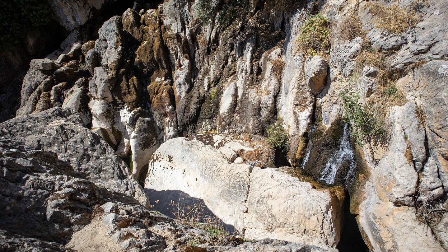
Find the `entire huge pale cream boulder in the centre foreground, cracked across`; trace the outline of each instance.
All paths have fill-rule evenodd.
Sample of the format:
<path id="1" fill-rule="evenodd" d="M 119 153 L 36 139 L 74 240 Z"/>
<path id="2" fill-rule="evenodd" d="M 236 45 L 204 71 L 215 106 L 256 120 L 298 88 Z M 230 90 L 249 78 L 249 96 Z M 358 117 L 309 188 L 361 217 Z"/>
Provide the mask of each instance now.
<path id="1" fill-rule="evenodd" d="M 145 190 L 159 211 L 203 204 L 247 239 L 284 239 L 331 251 L 340 239 L 343 191 L 317 190 L 276 169 L 234 164 L 198 140 L 160 145 Z"/>

